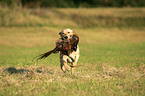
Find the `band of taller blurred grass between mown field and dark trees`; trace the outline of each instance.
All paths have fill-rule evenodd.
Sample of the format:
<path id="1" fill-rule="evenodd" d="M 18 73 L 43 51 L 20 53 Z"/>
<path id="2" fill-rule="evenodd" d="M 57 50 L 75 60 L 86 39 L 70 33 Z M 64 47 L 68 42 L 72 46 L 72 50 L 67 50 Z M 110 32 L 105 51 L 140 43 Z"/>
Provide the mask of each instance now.
<path id="1" fill-rule="evenodd" d="M 0 8 L 0 26 L 4 27 L 144 27 L 145 8 Z"/>

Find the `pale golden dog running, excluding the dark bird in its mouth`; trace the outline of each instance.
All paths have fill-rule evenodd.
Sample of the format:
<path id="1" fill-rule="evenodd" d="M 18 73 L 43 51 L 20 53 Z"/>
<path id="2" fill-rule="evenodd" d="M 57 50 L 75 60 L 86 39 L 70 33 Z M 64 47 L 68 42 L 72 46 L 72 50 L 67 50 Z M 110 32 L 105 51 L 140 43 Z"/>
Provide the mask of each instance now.
<path id="1" fill-rule="evenodd" d="M 63 29 L 60 33 L 59 33 L 60 39 L 61 40 L 72 40 L 75 38 L 75 36 L 77 36 L 76 34 L 74 34 L 74 31 L 71 29 Z M 73 71 L 74 68 L 77 65 L 77 61 L 79 59 L 79 46 L 78 46 L 78 42 L 79 42 L 79 38 L 77 38 L 78 40 L 74 40 L 73 45 L 72 45 L 72 49 L 70 50 L 70 52 L 68 54 L 64 54 L 63 51 L 60 51 L 60 67 L 62 69 L 63 72 L 66 72 L 66 70 L 71 70 Z M 71 66 L 68 65 L 68 62 L 71 63 Z"/>

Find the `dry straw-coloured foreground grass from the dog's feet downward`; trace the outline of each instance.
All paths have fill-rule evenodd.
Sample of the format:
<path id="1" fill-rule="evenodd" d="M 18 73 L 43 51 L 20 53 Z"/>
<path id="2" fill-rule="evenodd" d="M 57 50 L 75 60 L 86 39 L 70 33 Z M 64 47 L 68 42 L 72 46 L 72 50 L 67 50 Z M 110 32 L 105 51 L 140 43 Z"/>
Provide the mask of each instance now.
<path id="1" fill-rule="evenodd" d="M 21 69 L 28 71 L 13 74 L 1 68 L 3 70 L 0 77 L 1 94 L 103 95 L 103 92 L 107 95 L 131 95 L 128 92 L 144 94 L 144 73 L 136 69 L 116 68 L 107 64 L 79 67 L 80 69 L 76 69 L 73 74 L 70 72 L 64 74 L 58 67 L 54 69 L 45 65 L 23 67 Z"/>

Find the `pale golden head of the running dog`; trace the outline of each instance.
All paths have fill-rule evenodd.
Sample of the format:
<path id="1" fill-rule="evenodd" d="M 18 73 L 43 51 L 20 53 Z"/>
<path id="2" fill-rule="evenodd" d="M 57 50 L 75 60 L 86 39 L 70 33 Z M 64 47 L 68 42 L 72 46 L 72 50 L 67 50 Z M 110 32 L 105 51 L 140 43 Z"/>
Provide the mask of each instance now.
<path id="1" fill-rule="evenodd" d="M 74 35 L 74 31 L 73 30 L 71 30 L 71 29 L 63 29 L 60 33 L 59 33 L 59 36 L 60 36 L 60 38 L 62 39 L 62 40 L 64 40 L 64 39 L 67 39 L 67 40 L 69 40 L 69 39 L 71 39 L 72 38 L 72 36 Z"/>

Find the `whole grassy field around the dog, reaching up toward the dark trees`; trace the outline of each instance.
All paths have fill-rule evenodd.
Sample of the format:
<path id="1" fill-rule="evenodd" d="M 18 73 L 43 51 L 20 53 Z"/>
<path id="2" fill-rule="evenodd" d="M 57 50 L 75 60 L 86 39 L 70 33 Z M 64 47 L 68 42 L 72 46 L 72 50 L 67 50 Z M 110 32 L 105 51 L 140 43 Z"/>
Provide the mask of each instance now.
<path id="1" fill-rule="evenodd" d="M 83 13 L 82 10 L 86 13 Z M 104 10 L 104 13 L 101 10 Z M 50 13 L 38 17 L 37 15 L 40 14 L 36 14 L 35 10 L 29 11 L 31 11 L 30 13 L 33 12 L 33 14 L 26 13 L 29 19 L 34 16 L 30 20 L 40 20 L 39 23 L 34 22 L 34 25 L 29 26 L 31 21 L 23 22 L 25 20 L 23 17 L 21 24 L 17 22 L 21 26 L 17 24 L 14 26 L 15 20 L 9 22 L 8 19 L 5 19 L 8 23 L 6 21 L 3 22 L 3 25 L 0 23 L 1 96 L 145 95 L 145 27 L 139 27 L 140 24 L 144 24 L 144 21 L 142 21 L 144 20 L 142 18 L 145 17 L 142 14 L 145 12 L 144 8 L 127 10 L 125 8 L 51 9 L 48 11 Z M 43 9 L 41 12 L 45 13 L 45 11 L 46 9 Z M 127 26 L 131 22 L 119 22 L 120 19 L 115 19 L 117 20 L 117 26 L 109 23 L 109 27 L 106 27 L 106 23 L 102 25 L 104 23 L 101 21 L 102 24 L 95 27 L 98 22 L 92 21 L 93 19 L 88 21 L 93 22 L 89 25 L 86 21 L 83 22 L 84 19 L 82 18 L 78 22 L 75 20 L 73 22 L 68 12 L 73 13 L 73 16 L 74 13 L 80 12 L 77 16 L 75 14 L 73 18 L 76 21 L 80 20 L 81 16 L 86 16 L 82 18 L 88 19 L 87 13 L 92 16 L 104 16 L 104 18 L 107 16 L 108 18 L 114 12 L 118 12 L 116 15 L 113 14 L 114 18 L 123 16 L 122 18 L 136 17 L 141 19 L 135 19 L 137 21 L 131 19 L 133 26 Z M 139 12 L 141 14 L 138 14 Z M 56 14 L 59 14 L 59 16 L 56 16 Z M 50 15 L 49 18 L 48 15 Z M 67 18 L 62 18 L 65 15 L 67 15 Z M 9 15 L 3 14 L 3 16 L 7 17 Z M 43 25 L 45 20 L 49 20 L 49 23 Z M 51 25 L 49 25 L 50 22 L 52 22 Z M 111 19 L 108 22 L 114 22 L 114 20 Z M 138 22 L 138 27 L 134 27 L 134 22 Z M 118 27 L 119 24 L 121 24 L 121 27 Z M 80 58 L 73 74 L 71 72 L 64 74 L 61 71 L 59 54 L 53 54 L 38 63 L 35 60 L 32 61 L 35 56 L 54 48 L 58 32 L 65 27 L 70 27 L 80 36 Z"/>

